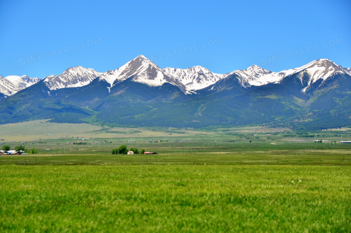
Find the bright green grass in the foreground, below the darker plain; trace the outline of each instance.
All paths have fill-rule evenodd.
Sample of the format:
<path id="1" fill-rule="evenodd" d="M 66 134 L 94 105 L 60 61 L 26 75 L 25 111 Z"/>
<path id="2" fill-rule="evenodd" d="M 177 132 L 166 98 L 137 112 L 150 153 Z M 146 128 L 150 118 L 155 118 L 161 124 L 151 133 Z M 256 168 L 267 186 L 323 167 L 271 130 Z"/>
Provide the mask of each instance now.
<path id="1" fill-rule="evenodd" d="M 348 166 L 0 169 L 4 232 L 350 231 Z"/>

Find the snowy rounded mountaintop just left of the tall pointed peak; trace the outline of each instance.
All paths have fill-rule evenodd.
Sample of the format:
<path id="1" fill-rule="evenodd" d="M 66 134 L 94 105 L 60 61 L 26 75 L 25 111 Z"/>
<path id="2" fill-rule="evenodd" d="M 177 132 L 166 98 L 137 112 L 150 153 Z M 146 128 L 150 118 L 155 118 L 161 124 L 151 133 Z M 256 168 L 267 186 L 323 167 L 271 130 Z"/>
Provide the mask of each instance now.
<path id="1" fill-rule="evenodd" d="M 50 90 L 66 87 L 82 87 L 89 84 L 101 74 L 94 69 L 77 66 L 68 68 L 60 75 L 49 75 L 45 77 L 44 82 Z"/>

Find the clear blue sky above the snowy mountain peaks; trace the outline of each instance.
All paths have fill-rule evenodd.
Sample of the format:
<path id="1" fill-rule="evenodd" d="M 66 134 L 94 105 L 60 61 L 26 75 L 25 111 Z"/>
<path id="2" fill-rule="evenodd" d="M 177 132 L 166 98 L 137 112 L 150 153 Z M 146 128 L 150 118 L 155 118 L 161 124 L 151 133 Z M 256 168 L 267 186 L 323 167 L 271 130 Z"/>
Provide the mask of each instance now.
<path id="1" fill-rule="evenodd" d="M 253 64 L 280 71 L 319 58 L 351 67 L 350 12 L 349 0 L 2 0 L 0 75 L 43 78 L 78 65 L 105 72 L 140 54 L 161 68 L 215 73 Z"/>

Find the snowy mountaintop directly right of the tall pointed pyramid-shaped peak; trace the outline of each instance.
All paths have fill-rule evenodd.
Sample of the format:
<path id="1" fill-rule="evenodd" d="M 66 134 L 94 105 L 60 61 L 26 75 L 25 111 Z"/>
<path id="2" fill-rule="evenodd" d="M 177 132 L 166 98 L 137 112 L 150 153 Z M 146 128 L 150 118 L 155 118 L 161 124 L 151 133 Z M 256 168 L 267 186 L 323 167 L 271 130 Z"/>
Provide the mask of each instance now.
<path id="1" fill-rule="evenodd" d="M 225 74 L 212 73 L 210 70 L 199 65 L 188 69 L 166 67 L 163 70 L 169 76 L 173 76 L 179 82 L 183 83 L 188 91 L 203 89 L 226 76 Z"/>

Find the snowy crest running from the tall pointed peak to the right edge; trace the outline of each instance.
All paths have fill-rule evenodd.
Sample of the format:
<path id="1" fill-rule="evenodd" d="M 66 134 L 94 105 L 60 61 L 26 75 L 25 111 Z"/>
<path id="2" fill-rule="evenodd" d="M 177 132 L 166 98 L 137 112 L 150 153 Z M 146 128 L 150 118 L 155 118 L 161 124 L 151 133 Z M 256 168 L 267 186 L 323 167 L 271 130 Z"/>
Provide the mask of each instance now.
<path id="1" fill-rule="evenodd" d="M 238 77 L 241 86 L 248 88 L 267 83 L 278 83 L 284 77 L 302 70 L 306 70 L 311 75 L 310 83 L 315 82 L 320 77 L 325 79 L 335 71 L 350 72 L 327 59 L 319 59 L 303 67 L 280 72 L 272 72 L 257 65 L 252 65 L 245 70 L 234 70 L 230 74 L 215 74 L 200 66 L 188 69 L 167 67 L 162 70 L 146 57 L 140 55 L 116 70 L 103 73 L 99 78 L 110 83 L 111 87 L 127 78 L 148 86 L 161 86 L 167 82 L 179 87 L 184 93 L 190 94 L 194 93 L 194 90 L 208 87 L 223 78 L 231 77 L 233 74 Z"/>

